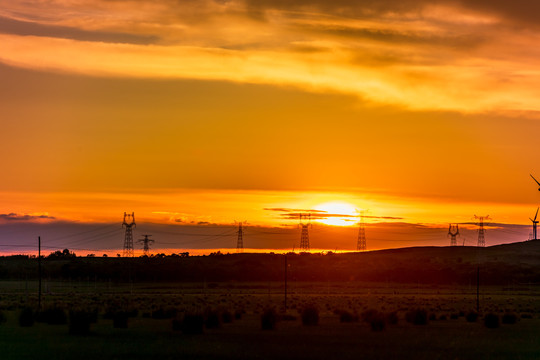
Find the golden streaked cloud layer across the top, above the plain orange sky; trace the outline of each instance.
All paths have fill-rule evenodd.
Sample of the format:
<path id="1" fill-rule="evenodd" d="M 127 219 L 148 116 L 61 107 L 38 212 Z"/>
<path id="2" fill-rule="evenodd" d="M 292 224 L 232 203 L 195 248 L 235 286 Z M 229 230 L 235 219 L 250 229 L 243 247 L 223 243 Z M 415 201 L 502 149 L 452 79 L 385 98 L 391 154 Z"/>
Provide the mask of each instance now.
<path id="1" fill-rule="evenodd" d="M 540 110 L 540 5 L 524 0 L 0 5 L 0 61 L 13 66 L 290 85 L 411 109 Z"/>

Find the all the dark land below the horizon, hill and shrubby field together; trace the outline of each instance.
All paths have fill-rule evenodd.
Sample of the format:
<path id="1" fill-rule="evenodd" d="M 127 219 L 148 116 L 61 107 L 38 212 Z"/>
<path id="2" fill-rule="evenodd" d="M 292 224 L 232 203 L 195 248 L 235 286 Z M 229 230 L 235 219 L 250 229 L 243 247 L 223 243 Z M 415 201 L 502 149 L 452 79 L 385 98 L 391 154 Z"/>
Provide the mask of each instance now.
<path id="1" fill-rule="evenodd" d="M 52 256 L 39 311 L 37 260 L 0 258 L 2 360 L 540 359 L 540 241 Z"/>

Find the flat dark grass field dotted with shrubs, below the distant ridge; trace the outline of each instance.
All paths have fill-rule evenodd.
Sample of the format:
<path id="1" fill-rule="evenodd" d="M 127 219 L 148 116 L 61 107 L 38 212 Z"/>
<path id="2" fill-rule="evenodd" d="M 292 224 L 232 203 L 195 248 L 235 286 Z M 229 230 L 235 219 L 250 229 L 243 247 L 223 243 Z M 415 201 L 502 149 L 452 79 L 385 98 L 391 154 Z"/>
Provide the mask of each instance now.
<path id="1" fill-rule="evenodd" d="M 35 305 L 34 283 L 1 283 L 0 307 L 7 321 L 0 325 L 2 359 L 538 359 L 540 303 L 533 288 L 485 288 L 481 314 L 475 309 L 475 289 L 469 287 L 392 286 L 389 284 L 298 283 L 289 289 L 289 320 L 274 330 L 261 329 L 261 314 L 283 308 L 278 283 L 48 284 L 43 305 L 66 310 L 91 308 L 98 314 L 88 335 L 70 335 L 68 325 L 18 323 L 20 307 Z M 69 285 L 69 286 L 68 286 Z M 27 290 L 28 289 L 28 290 Z M 319 310 L 316 326 L 304 326 L 302 309 Z M 113 327 L 105 314 L 110 307 L 135 309 L 127 329 Z M 425 325 L 405 321 L 407 311 L 425 309 Z M 175 331 L 171 318 L 154 318 L 159 309 L 177 314 L 205 309 L 242 314 L 231 323 L 206 328 L 203 334 Z M 365 321 L 340 322 L 340 311 L 396 312 L 397 324 L 373 331 Z M 484 326 L 482 314 L 516 315 L 515 324 Z M 176 315 L 178 317 L 178 315 Z"/>

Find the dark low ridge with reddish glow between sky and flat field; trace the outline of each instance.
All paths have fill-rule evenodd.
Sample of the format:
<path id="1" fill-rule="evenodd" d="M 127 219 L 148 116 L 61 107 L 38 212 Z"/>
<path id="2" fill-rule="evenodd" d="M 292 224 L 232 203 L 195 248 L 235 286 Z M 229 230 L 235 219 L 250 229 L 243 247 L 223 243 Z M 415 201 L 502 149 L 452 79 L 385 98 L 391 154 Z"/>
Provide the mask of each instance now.
<path id="1" fill-rule="evenodd" d="M 67 250 L 67 249 L 66 249 Z M 124 282 L 283 281 L 285 255 L 213 254 L 139 258 L 75 257 L 64 250 L 42 260 L 43 277 Z M 474 247 L 417 247 L 344 254 L 288 254 L 289 281 L 493 285 L 540 284 L 540 241 Z M 0 258 L 0 279 L 37 279 L 37 259 Z"/>

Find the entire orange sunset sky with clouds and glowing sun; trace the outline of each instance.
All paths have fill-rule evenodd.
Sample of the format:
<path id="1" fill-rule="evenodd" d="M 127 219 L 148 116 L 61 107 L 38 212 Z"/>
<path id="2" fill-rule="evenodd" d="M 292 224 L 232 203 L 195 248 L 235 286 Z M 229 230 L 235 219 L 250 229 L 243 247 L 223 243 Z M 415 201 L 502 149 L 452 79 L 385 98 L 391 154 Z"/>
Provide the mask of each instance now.
<path id="1" fill-rule="evenodd" d="M 0 0 L 0 252 L 113 251 L 125 211 L 159 249 L 234 248 L 235 221 L 297 248 L 295 210 L 328 215 L 315 249 L 354 250 L 332 224 L 362 209 L 370 249 L 475 245 L 475 214 L 526 240 L 539 24 L 525 0 Z"/>

